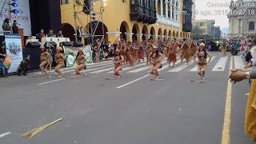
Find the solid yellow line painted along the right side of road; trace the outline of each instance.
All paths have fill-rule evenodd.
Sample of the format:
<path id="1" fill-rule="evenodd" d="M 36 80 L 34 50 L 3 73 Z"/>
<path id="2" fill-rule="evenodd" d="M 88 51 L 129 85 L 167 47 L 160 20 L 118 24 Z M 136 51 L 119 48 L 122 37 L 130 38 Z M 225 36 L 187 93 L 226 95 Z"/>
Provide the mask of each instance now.
<path id="1" fill-rule="evenodd" d="M 233 68 L 233 64 L 234 56 L 230 58 L 230 70 Z M 232 83 L 227 82 L 225 116 L 222 130 L 222 144 L 230 144 L 231 96 Z"/>

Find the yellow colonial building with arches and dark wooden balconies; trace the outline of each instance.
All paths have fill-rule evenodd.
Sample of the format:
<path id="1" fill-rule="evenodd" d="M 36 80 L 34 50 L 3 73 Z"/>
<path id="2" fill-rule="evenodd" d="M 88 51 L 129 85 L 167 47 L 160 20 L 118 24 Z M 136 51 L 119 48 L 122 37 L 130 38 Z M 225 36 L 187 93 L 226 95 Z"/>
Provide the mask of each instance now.
<path id="1" fill-rule="evenodd" d="M 190 38 L 190 30 L 183 30 L 179 13 L 183 0 L 98 0 L 92 12 L 96 22 L 93 26 L 90 26 L 91 15 L 82 13 L 82 1 L 62 1 L 65 1 L 61 5 L 62 32 L 72 40 L 77 26 L 82 26 L 86 33 L 97 25 L 96 21 L 99 23 L 95 35 L 105 35 L 110 42 L 119 38 L 127 41 Z M 102 14 L 97 12 L 100 10 Z"/>

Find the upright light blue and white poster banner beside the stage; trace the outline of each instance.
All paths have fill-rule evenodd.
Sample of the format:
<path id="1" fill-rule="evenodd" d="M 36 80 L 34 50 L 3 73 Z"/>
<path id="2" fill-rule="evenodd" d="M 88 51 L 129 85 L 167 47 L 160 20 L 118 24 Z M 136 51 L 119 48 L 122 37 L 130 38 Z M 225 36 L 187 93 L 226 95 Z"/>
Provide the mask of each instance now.
<path id="1" fill-rule="evenodd" d="M 23 60 L 21 36 L 19 34 L 5 34 L 5 39 L 6 54 L 11 57 L 8 73 L 14 73 Z"/>

